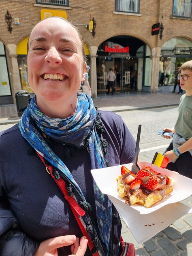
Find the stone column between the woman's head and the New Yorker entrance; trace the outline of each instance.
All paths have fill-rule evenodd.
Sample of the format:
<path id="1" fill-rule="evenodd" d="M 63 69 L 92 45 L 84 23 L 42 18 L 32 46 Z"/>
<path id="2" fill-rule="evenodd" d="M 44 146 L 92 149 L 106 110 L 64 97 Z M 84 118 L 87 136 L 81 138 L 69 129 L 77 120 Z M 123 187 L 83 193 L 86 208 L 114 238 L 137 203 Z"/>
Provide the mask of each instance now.
<path id="1" fill-rule="evenodd" d="M 96 65 L 96 53 L 98 47 L 91 46 L 90 49 L 90 64 L 91 64 L 91 91 L 92 91 L 92 98 L 97 98 L 97 65 Z"/>

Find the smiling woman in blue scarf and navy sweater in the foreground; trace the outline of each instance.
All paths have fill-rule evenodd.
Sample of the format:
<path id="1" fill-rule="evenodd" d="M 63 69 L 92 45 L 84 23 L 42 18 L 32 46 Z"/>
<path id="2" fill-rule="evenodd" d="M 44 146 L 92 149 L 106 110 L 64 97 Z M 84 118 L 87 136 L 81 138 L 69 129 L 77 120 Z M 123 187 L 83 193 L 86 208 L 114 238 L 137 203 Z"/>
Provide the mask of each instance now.
<path id="1" fill-rule="evenodd" d="M 132 162 L 135 141 L 119 115 L 79 92 L 86 62 L 74 26 L 47 18 L 28 46 L 36 96 L 0 133 L 0 255 L 119 256 L 118 212 L 90 170 Z"/>

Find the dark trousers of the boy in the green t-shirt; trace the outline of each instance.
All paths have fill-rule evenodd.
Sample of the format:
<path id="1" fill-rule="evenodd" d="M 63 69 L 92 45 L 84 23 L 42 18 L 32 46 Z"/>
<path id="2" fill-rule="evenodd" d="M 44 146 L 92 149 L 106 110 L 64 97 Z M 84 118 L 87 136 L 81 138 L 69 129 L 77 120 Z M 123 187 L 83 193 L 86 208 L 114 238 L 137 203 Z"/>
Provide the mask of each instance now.
<path id="1" fill-rule="evenodd" d="M 173 143 L 171 142 L 169 144 L 169 147 L 166 149 L 166 151 L 173 149 Z M 165 151 L 165 152 L 166 152 Z M 181 154 L 175 163 L 171 162 L 166 166 L 166 169 L 169 169 L 171 171 L 176 171 L 181 175 L 184 175 L 190 179 L 192 179 L 192 156 L 189 153 L 189 151 Z"/>

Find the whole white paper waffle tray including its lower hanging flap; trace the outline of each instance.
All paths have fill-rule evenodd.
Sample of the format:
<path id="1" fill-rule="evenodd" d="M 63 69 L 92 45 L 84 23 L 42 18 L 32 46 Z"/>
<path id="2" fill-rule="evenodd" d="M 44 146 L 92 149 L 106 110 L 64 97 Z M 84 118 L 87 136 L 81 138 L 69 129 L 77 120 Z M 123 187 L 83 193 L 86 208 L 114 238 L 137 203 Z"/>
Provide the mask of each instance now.
<path id="1" fill-rule="evenodd" d="M 151 165 L 149 162 L 138 164 L 140 168 Z M 190 207 L 179 203 L 192 194 L 192 179 L 155 165 L 152 165 L 152 169 L 172 178 L 172 194 L 150 208 L 126 205 L 125 200 L 117 193 L 116 178 L 121 174 L 121 166 L 95 169 L 91 172 L 98 187 L 104 194 L 108 194 L 138 243 L 144 243 L 186 213 L 192 213 Z M 132 164 L 124 166 L 131 170 Z"/>

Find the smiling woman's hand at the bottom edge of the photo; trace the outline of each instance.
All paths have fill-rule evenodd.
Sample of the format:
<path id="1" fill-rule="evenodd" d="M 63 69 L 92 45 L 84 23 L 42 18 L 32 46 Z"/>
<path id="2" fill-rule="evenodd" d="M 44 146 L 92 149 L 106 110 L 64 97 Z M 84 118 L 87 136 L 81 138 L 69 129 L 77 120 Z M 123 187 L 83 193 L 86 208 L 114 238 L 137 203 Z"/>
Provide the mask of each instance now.
<path id="1" fill-rule="evenodd" d="M 81 237 L 80 243 L 79 238 L 75 235 L 61 236 L 49 238 L 39 245 L 35 256 L 58 256 L 58 248 L 63 246 L 71 246 L 70 256 L 84 256 L 87 249 L 88 240 L 85 236 Z"/>

